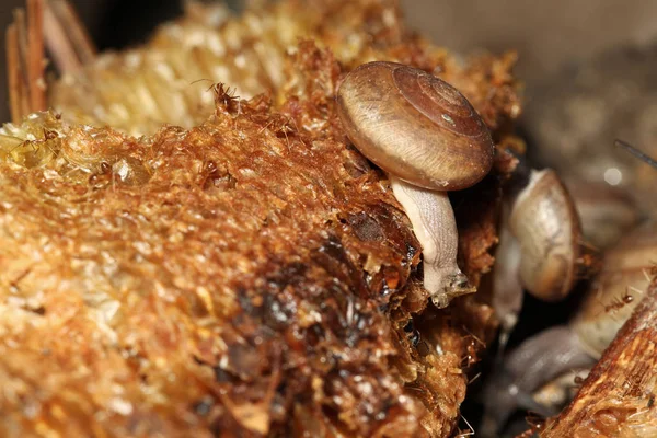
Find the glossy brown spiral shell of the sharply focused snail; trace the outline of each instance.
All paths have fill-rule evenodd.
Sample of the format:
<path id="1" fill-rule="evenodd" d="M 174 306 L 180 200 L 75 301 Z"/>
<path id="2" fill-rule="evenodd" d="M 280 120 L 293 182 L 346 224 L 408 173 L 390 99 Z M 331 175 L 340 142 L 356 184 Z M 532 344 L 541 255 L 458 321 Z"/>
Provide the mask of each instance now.
<path id="1" fill-rule="evenodd" d="M 337 104 L 360 152 L 411 184 L 461 189 L 491 170 L 494 145 L 480 115 L 457 89 L 423 70 L 365 64 L 345 77 Z"/>

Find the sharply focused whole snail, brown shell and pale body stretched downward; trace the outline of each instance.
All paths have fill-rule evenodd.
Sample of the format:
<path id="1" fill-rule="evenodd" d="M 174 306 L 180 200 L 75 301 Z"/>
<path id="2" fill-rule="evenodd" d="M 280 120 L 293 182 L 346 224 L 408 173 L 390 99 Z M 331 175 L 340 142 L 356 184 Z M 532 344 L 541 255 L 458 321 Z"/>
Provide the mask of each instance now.
<path id="1" fill-rule="evenodd" d="M 344 130 L 388 174 L 423 246 L 431 300 L 473 292 L 457 266 L 458 231 L 447 191 L 480 182 L 493 165 L 488 128 L 447 82 L 408 66 L 374 61 L 349 72 L 337 91 Z"/>

